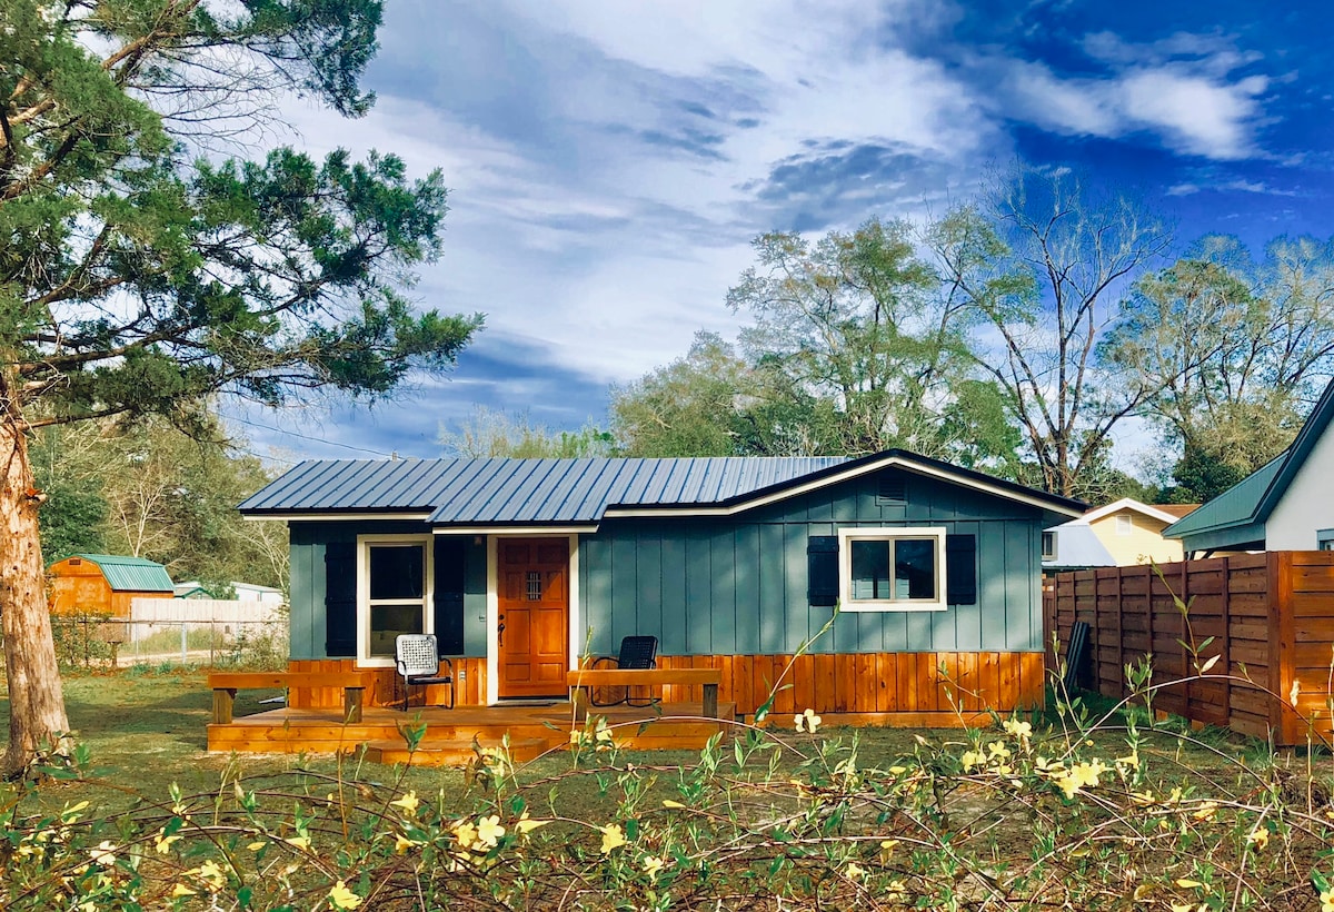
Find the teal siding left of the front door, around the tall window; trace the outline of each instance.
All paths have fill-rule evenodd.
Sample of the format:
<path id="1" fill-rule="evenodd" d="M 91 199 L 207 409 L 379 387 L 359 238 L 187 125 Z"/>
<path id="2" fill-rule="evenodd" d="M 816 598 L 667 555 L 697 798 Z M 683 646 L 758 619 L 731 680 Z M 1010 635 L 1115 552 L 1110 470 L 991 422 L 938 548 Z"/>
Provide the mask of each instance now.
<path id="1" fill-rule="evenodd" d="M 292 522 L 291 530 L 291 658 L 327 658 L 324 649 L 324 553 L 331 542 L 355 542 L 358 535 L 422 535 L 422 522 Z M 486 545 L 466 537 L 463 582 L 464 656 L 487 654 L 487 558 Z"/>

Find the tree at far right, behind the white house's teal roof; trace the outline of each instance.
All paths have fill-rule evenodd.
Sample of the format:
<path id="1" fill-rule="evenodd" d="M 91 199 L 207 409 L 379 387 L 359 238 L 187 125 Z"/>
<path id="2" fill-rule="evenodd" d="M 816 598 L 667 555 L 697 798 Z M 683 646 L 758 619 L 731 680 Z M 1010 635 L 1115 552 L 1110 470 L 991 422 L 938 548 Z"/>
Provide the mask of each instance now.
<path id="1" fill-rule="evenodd" d="M 1135 284 L 1106 357 L 1157 389 L 1143 413 L 1183 453 L 1177 495 L 1209 499 L 1291 442 L 1334 369 L 1331 291 L 1334 250 L 1310 238 L 1279 238 L 1257 263 L 1209 236 Z"/>

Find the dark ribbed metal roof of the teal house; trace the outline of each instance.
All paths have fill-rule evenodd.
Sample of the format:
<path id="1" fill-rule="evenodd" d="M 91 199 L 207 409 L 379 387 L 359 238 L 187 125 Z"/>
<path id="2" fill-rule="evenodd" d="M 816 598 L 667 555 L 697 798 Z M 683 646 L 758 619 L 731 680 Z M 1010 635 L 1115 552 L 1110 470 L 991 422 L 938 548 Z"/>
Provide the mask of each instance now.
<path id="1" fill-rule="evenodd" d="M 598 523 L 610 509 L 736 509 L 752 499 L 836 482 L 896 465 L 1053 517 L 1085 505 L 1014 482 L 887 450 L 843 457 L 700 457 L 676 459 L 399 459 L 303 462 L 247 498 L 251 517 L 403 515 L 442 526 Z"/>

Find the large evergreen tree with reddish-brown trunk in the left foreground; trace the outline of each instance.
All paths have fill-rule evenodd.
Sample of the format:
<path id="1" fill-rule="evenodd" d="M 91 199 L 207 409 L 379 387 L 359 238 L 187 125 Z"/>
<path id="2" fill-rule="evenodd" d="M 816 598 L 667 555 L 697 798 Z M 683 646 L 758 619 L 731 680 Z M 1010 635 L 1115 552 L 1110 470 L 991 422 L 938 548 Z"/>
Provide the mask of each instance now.
<path id="1" fill-rule="evenodd" d="M 439 174 L 323 162 L 256 135 L 284 92 L 346 116 L 379 0 L 9 0 L 0 12 L 0 622 L 17 769 L 68 730 L 43 592 L 28 434 L 220 390 L 279 406 L 379 397 L 447 369 L 479 316 L 418 315 Z M 191 151 L 193 150 L 193 151 Z M 209 150 L 211 160 L 196 158 Z"/>

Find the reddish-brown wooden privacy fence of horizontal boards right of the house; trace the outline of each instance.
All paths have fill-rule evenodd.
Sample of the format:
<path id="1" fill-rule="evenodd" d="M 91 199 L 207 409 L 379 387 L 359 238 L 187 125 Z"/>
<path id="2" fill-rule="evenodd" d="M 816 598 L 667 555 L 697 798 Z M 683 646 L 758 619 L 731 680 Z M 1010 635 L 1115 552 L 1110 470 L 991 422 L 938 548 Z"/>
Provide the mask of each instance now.
<path id="1" fill-rule="evenodd" d="M 1159 577 L 1159 573 L 1162 574 Z M 1175 598 L 1174 598 L 1175 597 Z M 1183 616 L 1177 598 L 1189 605 Z M 1058 574 L 1043 586 L 1047 664 L 1065 658 L 1075 621 L 1090 625 L 1086 686 L 1129 692 L 1126 666 L 1153 656 L 1157 709 L 1282 745 L 1331 737 L 1334 551 L 1269 551 Z M 1198 662 L 1218 661 L 1195 674 Z M 1197 677 L 1197 680 L 1186 680 Z M 1291 701 L 1295 690 L 1295 712 Z"/>

